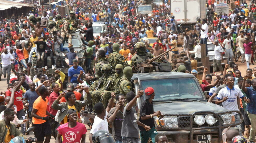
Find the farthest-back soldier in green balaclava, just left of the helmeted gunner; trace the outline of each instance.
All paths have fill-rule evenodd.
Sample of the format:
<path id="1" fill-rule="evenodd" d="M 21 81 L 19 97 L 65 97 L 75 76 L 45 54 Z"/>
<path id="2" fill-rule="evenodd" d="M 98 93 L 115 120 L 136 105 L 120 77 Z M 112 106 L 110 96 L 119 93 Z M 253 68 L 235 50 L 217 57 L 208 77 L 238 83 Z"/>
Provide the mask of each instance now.
<path id="1" fill-rule="evenodd" d="M 125 62 L 124 57 L 119 54 L 119 43 L 113 44 L 113 53 L 110 53 L 108 56 L 108 62 L 112 67 L 115 67 L 117 64 L 123 65 L 123 68 L 128 66 L 127 62 Z"/>

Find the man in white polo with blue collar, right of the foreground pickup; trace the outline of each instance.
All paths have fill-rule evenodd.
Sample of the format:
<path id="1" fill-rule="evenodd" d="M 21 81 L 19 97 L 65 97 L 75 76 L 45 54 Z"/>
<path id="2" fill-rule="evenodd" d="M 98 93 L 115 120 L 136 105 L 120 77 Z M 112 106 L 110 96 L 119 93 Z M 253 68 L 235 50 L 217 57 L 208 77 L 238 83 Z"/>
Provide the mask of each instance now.
<path id="1" fill-rule="evenodd" d="M 239 104 L 237 103 L 237 97 L 242 98 L 245 102 L 249 102 L 250 100 L 243 96 L 243 93 L 239 88 L 234 87 L 234 82 L 235 81 L 232 76 L 227 77 L 228 85 L 219 91 L 215 104 L 222 103 L 224 108 L 240 111 L 238 108 Z M 240 116 L 238 113 L 235 114 L 235 122 L 240 122 Z M 239 128 L 240 135 L 242 135 L 241 124 L 237 125 L 237 127 Z"/>

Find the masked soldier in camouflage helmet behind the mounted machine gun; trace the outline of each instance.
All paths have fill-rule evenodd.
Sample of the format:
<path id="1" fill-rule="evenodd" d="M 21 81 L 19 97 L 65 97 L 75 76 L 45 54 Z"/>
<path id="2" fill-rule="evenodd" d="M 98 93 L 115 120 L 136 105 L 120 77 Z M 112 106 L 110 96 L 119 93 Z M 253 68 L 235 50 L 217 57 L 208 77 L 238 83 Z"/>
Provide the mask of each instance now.
<path id="1" fill-rule="evenodd" d="M 151 53 L 146 51 L 146 45 L 143 42 L 137 42 L 135 48 L 137 50 L 137 55 L 131 58 L 131 67 L 135 67 L 137 63 L 142 63 L 146 59 L 154 57 Z"/>

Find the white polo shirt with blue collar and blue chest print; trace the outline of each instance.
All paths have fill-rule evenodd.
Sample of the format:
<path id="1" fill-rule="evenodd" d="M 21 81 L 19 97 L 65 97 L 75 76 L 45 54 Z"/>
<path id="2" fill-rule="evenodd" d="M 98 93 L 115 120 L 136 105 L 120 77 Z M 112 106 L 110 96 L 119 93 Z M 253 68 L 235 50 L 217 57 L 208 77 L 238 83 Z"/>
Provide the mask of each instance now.
<path id="1" fill-rule="evenodd" d="M 237 106 L 237 96 L 240 98 L 244 97 L 239 88 L 233 87 L 232 89 L 229 89 L 228 87 L 225 87 L 219 91 L 217 99 L 222 100 L 224 97 L 228 97 L 228 99 L 222 103 L 223 107 L 229 110 L 240 111 Z"/>

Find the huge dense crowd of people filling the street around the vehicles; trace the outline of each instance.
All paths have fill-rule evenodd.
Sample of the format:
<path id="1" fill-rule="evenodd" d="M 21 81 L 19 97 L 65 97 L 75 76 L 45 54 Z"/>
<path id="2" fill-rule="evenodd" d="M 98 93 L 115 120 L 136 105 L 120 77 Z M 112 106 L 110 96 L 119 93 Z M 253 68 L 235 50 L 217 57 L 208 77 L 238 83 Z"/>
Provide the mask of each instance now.
<path id="1" fill-rule="evenodd" d="M 135 94 L 131 81 L 134 67 L 167 50 L 174 54 L 186 52 L 187 56 L 177 61 L 183 65 L 176 71 L 197 78 L 197 63 L 202 58 L 199 43 L 206 44 L 207 55 L 207 42 L 212 42 L 215 45 L 213 73 L 206 75 L 209 69 L 204 69 L 200 87 L 209 92 L 209 102 L 244 115 L 243 123 L 237 126 L 239 133 L 229 128 L 223 130 L 223 142 L 246 141 L 244 138 L 254 142 L 256 68 L 252 70 L 249 66 L 255 62 L 255 1 L 247 4 L 236 0 L 236 8 L 230 13 L 214 12 L 214 2 L 207 2 L 207 19 L 197 19 L 194 29 L 191 32 L 184 29 L 183 33 L 178 32 L 181 29 L 175 17 L 168 17 L 168 1 L 154 5 L 150 16 L 136 13 L 141 1 L 67 0 L 69 15 L 60 15 L 57 8 L 37 7 L 36 11 L 21 16 L 1 17 L 0 56 L 8 86 L 0 96 L 3 119 L 0 126 L 6 133 L 0 133 L 0 140 L 10 142 L 26 131 L 25 107 L 29 122 L 35 127 L 35 138 L 25 137 L 30 142 L 49 143 L 53 136 L 57 143 L 84 143 L 87 132 L 84 124 L 91 124 L 80 112 L 95 115 L 89 135 L 91 143 L 104 142 L 102 134 L 113 136 L 109 140 L 118 143 L 144 143 L 149 138 L 152 142 L 167 142 L 167 137 L 158 134 L 154 127 L 153 117 L 161 115 L 161 111 L 153 110 L 154 89 L 148 87 Z M 107 32 L 94 37 L 93 22 L 104 22 Z M 75 32 L 83 35 L 82 64 L 72 44 Z M 177 46 L 178 36 L 183 38 L 183 51 Z M 147 38 L 156 41 L 149 43 Z M 65 41 L 67 47 L 63 47 Z M 236 51 L 241 52 L 241 62 L 247 64 L 244 78 L 233 62 Z M 227 59 L 224 70 L 223 52 Z M 54 73 L 46 74 L 49 66 Z M 33 77 L 31 68 L 37 71 Z M 65 68 L 66 74 L 60 70 Z M 211 83 L 218 70 L 221 74 Z M 134 105 L 143 94 L 146 100 L 141 104 L 137 120 L 138 110 Z M 235 121 L 240 122 L 239 114 L 235 115 Z M 21 126 L 20 131 L 17 125 Z"/>

